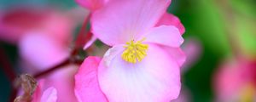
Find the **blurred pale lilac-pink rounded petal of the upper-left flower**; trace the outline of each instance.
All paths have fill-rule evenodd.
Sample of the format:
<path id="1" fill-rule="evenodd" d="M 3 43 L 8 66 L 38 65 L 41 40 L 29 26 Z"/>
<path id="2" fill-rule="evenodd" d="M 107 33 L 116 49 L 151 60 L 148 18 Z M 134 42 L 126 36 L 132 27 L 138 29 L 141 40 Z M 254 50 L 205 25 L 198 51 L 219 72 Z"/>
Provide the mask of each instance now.
<path id="1" fill-rule="evenodd" d="M 20 40 L 20 55 L 37 70 L 44 71 L 49 67 L 61 63 L 69 55 L 67 46 L 55 42 L 42 32 L 31 32 Z M 27 69 L 32 70 L 32 69 Z"/>

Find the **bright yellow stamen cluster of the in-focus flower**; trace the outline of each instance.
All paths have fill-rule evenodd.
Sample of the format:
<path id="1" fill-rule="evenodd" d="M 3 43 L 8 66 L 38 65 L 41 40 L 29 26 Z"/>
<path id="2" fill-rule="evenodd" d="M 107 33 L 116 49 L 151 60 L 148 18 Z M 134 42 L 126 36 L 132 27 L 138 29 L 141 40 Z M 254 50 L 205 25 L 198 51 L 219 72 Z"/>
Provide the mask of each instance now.
<path id="1" fill-rule="evenodd" d="M 143 38 L 145 40 L 145 38 Z M 143 40 L 134 42 L 126 42 L 125 51 L 122 54 L 122 58 L 130 63 L 137 63 L 137 61 L 142 61 L 142 59 L 147 55 L 146 51 L 148 50 L 148 45 L 143 44 Z"/>

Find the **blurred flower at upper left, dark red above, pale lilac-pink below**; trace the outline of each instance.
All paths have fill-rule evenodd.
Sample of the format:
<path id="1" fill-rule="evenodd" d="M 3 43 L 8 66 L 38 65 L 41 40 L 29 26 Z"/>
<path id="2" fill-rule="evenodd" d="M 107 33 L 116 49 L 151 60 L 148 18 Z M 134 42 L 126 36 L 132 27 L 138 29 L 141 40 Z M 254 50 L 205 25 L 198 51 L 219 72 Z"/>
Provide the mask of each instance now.
<path id="1" fill-rule="evenodd" d="M 12 8 L 0 17 L 0 38 L 18 44 L 24 71 L 44 71 L 66 59 L 77 22 L 53 9 Z M 57 26 L 57 27 L 56 27 Z"/>

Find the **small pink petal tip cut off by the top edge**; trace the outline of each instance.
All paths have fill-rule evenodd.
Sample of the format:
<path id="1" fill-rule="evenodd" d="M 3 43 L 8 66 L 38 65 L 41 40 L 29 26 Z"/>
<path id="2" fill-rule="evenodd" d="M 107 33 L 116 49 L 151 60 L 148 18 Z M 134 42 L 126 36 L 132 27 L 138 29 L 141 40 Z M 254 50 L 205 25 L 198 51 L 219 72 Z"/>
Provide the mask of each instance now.
<path id="1" fill-rule="evenodd" d="M 102 8 L 108 0 L 76 0 L 76 2 L 84 8 L 89 8 L 91 11 L 95 11 L 98 8 Z"/>

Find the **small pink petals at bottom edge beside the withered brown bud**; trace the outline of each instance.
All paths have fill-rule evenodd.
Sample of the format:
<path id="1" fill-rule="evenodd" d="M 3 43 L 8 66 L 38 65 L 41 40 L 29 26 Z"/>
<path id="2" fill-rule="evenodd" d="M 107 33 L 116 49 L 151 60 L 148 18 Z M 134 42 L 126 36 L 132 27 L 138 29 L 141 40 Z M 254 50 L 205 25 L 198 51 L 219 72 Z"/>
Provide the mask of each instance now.
<path id="1" fill-rule="evenodd" d="M 46 88 L 43 91 L 44 80 L 38 82 L 38 86 L 32 95 L 32 102 L 56 102 L 57 90 L 54 87 Z"/>

